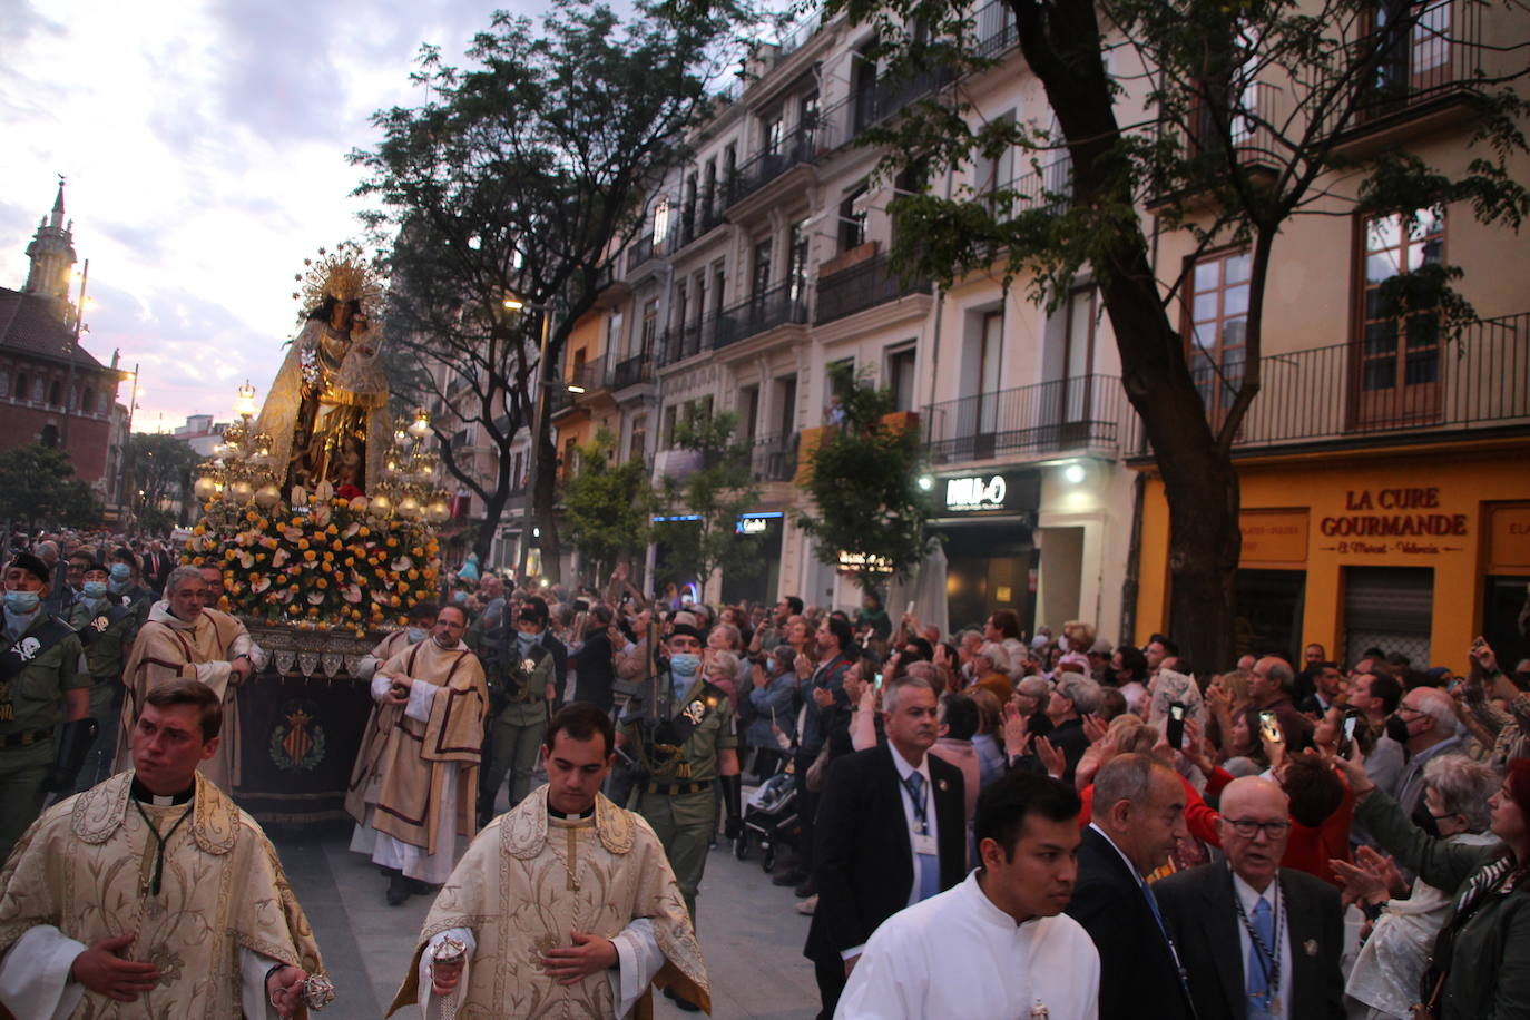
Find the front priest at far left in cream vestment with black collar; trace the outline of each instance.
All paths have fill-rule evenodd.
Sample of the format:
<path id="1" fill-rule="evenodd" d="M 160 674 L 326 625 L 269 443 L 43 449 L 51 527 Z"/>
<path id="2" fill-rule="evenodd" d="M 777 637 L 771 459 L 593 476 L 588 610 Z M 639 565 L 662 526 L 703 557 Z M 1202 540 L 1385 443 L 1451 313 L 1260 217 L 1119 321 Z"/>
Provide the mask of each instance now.
<path id="1" fill-rule="evenodd" d="M 17 844 L 0 872 L 0 1017 L 306 1015 L 323 965 L 303 908 L 260 826 L 196 772 L 217 722 L 196 681 L 158 688 L 135 769 Z"/>

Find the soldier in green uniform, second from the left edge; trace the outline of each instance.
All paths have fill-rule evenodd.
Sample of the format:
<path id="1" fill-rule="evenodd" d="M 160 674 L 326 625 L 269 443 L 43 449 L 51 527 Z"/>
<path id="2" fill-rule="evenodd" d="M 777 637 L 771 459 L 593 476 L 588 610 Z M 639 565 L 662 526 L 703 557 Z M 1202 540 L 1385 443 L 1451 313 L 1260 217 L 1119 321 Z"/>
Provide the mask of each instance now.
<path id="1" fill-rule="evenodd" d="M 103 563 L 86 566 L 80 599 L 69 610 L 69 625 L 80 633 L 90 671 L 90 717 L 96 733 L 84 768 L 80 769 L 76 792 L 84 792 L 112 774 L 116 755 L 118 720 L 122 717 L 122 662 L 138 638 L 138 613 L 109 598 L 112 573 Z"/>

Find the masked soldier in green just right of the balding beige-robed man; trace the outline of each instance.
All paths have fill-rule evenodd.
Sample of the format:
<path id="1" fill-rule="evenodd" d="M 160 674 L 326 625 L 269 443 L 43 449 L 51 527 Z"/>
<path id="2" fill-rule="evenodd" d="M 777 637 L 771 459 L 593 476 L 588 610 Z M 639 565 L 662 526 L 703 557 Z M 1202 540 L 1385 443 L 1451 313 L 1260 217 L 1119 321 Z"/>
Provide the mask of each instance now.
<path id="1" fill-rule="evenodd" d="M 516 630 L 503 629 L 499 641 L 485 644 L 483 673 L 488 682 L 490 711 L 494 714 L 490 765 L 479 783 L 479 824 L 494 818 L 494 798 L 509 774 L 509 806 L 531 792 L 531 774 L 548 733 L 552 700 L 557 696 L 557 670 L 540 641 L 546 618 L 525 606 L 516 616 Z"/>

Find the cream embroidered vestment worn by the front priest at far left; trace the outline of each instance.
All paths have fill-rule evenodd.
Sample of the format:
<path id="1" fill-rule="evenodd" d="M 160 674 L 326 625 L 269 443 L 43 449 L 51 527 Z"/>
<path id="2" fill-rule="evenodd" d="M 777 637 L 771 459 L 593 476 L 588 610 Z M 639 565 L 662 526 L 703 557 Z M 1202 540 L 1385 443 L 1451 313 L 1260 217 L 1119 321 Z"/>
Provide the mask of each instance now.
<path id="1" fill-rule="evenodd" d="M 55 804 L 0 872 L 0 1017 L 275 1017 L 268 971 L 323 963 L 271 843 L 203 775 L 188 803 L 132 794 L 121 772 Z M 83 950 L 127 933 L 121 956 L 158 966 L 155 988 L 116 1002 L 69 980 Z"/>

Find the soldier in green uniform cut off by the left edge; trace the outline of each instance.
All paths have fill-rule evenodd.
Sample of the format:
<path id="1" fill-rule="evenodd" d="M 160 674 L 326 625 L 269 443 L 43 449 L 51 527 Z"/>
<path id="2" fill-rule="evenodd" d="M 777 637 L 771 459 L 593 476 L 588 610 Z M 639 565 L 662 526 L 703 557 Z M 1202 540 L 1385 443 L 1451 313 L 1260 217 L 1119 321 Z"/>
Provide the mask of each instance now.
<path id="1" fill-rule="evenodd" d="M 47 788 L 57 784 L 54 731 L 60 720 L 90 716 L 90 674 L 83 668 L 80 638 L 43 609 L 47 578 L 47 566 L 29 552 L 17 554 L 5 569 L 0 859 L 37 821 Z"/>

